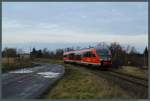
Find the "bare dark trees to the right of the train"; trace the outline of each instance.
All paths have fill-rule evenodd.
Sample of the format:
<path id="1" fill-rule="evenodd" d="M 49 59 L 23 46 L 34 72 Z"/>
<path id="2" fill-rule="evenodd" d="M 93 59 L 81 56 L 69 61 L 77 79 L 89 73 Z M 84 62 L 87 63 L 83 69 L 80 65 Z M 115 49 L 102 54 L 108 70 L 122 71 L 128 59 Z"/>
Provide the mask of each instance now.
<path id="1" fill-rule="evenodd" d="M 119 67 L 122 65 L 137 67 L 148 66 L 147 47 L 145 47 L 143 53 L 139 53 L 133 46 L 131 47 L 128 45 L 125 49 L 117 43 L 112 43 L 109 48 L 112 53 L 112 62 L 114 67 Z"/>

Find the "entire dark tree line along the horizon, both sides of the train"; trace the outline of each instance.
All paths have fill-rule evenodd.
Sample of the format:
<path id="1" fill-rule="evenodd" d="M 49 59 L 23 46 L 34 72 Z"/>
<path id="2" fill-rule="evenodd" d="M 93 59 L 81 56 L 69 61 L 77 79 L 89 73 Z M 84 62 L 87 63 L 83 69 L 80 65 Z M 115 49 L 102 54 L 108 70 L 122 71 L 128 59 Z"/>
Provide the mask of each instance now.
<path id="1" fill-rule="evenodd" d="M 100 45 L 99 43 L 98 45 Z M 102 45 L 105 45 L 103 43 Z M 92 46 L 89 46 L 91 48 Z M 108 45 L 112 53 L 112 62 L 114 67 L 119 67 L 122 65 L 130 66 L 148 66 L 148 48 L 145 47 L 143 53 L 139 53 L 135 47 L 127 46 L 126 48 L 122 47 L 119 43 L 111 43 Z M 80 49 L 80 47 L 68 47 L 65 49 L 56 49 L 55 51 L 49 51 L 47 48 L 39 49 L 33 48 L 29 53 L 30 58 L 49 58 L 49 59 L 63 59 L 63 53 L 66 51 L 72 51 Z M 15 48 L 5 48 L 2 51 L 2 57 L 19 57 L 23 53 L 22 50 L 17 50 Z"/>

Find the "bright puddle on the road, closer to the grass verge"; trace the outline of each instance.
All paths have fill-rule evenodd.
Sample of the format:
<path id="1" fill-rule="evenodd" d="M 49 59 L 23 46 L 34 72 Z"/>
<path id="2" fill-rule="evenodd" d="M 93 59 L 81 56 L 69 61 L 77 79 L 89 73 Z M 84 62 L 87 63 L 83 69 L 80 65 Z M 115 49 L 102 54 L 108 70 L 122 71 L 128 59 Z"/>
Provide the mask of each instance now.
<path id="1" fill-rule="evenodd" d="M 37 73 L 39 75 L 42 75 L 45 78 L 57 78 L 60 73 L 55 73 L 55 72 L 40 72 Z"/>

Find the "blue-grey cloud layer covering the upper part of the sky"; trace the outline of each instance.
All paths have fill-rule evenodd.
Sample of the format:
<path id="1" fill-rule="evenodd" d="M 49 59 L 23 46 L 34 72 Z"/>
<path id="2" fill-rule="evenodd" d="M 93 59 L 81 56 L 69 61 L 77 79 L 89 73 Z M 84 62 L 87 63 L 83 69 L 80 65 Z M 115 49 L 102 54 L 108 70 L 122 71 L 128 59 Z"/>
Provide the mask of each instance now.
<path id="1" fill-rule="evenodd" d="M 7 30 L 60 27 L 83 33 L 143 34 L 148 32 L 148 3 L 5 3 Z M 16 9 L 21 6 L 22 9 Z M 23 7 L 22 7 L 23 6 Z M 35 12 L 38 11 L 38 12 Z M 10 20 L 13 20 L 11 22 Z M 8 24 L 7 24 L 8 23 Z M 22 23 L 22 24 L 20 24 Z M 27 23 L 27 24 L 24 24 Z M 64 28 L 63 28 L 64 29 Z"/>

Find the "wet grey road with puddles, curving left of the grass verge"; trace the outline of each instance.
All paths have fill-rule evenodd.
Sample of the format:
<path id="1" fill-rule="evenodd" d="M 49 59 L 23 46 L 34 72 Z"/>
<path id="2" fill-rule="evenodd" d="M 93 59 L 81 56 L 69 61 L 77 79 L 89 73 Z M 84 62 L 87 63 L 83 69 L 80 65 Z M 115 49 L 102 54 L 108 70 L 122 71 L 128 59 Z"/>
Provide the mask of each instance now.
<path id="1" fill-rule="evenodd" d="M 41 64 L 2 74 L 2 98 L 37 98 L 64 74 L 64 67 Z"/>

